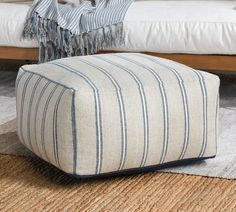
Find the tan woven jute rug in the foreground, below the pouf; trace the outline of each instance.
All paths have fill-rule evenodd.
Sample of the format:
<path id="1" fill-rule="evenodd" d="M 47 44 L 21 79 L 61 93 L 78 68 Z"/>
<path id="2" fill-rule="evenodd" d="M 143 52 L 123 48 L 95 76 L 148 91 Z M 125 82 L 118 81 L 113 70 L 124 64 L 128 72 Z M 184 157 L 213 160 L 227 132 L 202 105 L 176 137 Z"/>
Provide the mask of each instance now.
<path id="1" fill-rule="evenodd" d="M 0 155 L 0 211 L 235 211 L 236 180 L 147 173 L 78 180 L 42 160 Z"/>

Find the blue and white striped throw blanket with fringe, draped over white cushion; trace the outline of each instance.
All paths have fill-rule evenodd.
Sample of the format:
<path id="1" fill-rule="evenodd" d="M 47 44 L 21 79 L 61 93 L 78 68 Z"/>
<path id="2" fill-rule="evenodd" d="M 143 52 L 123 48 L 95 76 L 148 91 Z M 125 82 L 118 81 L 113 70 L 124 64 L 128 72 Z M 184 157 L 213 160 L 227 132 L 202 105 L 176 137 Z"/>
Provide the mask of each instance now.
<path id="1" fill-rule="evenodd" d="M 35 0 L 23 37 L 39 42 L 39 62 L 95 54 L 124 42 L 123 19 L 133 0 L 93 0 L 79 5 Z"/>

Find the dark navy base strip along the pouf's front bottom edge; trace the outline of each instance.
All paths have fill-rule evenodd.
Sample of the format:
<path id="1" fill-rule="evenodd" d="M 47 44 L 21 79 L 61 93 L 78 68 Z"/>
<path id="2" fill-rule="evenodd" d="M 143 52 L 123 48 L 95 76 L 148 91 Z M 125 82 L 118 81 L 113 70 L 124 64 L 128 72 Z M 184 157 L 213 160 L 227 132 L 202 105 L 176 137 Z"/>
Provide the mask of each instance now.
<path id="1" fill-rule="evenodd" d="M 126 170 L 122 170 L 122 171 L 108 172 L 108 173 L 102 173 L 102 174 L 97 174 L 97 175 L 74 175 L 74 174 L 68 174 L 68 175 L 75 177 L 77 179 L 122 177 L 122 176 L 127 176 L 127 175 L 155 172 L 155 171 L 159 171 L 161 169 L 172 168 L 175 166 L 190 165 L 191 163 L 194 163 L 197 161 L 215 158 L 215 156 L 216 155 L 209 156 L 209 157 L 201 157 L 201 158 L 187 158 L 187 159 L 182 159 L 182 160 L 170 161 L 170 162 L 166 162 L 166 163 L 158 164 L 158 165 L 146 166 L 146 167 L 141 167 L 141 168 L 132 168 L 132 169 L 126 169 Z"/>

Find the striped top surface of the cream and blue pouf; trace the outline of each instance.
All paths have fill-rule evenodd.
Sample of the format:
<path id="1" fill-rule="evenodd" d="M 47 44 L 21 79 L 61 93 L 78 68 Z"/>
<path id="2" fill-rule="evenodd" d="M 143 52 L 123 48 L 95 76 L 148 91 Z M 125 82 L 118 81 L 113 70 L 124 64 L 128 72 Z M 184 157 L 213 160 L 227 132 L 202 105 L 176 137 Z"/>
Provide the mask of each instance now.
<path id="1" fill-rule="evenodd" d="M 199 79 L 218 80 L 218 77 L 192 69 L 183 64 L 140 53 L 99 54 L 70 57 L 52 62 L 25 65 L 21 70 L 39 75 L 66 88 L 79 90 L 90 84 L 102 89 L 106 82 L 129 87 L 131 81 L 156 83 L 184 83 Z M 200 77 L 200 78 L 199 78 Z"/>

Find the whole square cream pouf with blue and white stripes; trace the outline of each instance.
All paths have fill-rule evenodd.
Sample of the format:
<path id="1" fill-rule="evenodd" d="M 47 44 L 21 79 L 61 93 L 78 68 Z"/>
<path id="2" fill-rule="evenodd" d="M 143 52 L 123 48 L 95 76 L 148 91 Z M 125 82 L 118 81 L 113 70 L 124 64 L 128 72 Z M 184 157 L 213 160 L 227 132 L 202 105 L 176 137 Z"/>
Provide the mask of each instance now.
<path id="1" fill-rule="evenodd" d="M 66 58 L 20 68 L 17 132 L 79 177 L 214 157 L 217 76 L 143 54 Z"/>

